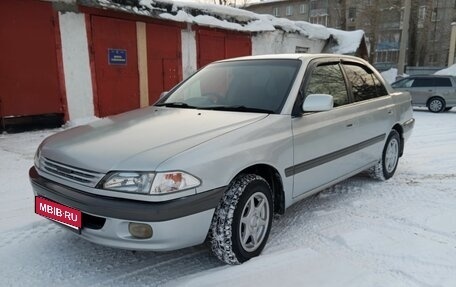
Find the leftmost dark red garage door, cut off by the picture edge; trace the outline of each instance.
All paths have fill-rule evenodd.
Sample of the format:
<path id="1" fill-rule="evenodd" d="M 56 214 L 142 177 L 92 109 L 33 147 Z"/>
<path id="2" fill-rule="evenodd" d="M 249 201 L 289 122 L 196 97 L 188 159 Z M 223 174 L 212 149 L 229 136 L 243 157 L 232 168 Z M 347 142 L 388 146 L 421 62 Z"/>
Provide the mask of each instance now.
<path id="1" fill-rule="evenodd" d="M 0 1 L 0 118 L 63 113 L 52 4 Z"/>

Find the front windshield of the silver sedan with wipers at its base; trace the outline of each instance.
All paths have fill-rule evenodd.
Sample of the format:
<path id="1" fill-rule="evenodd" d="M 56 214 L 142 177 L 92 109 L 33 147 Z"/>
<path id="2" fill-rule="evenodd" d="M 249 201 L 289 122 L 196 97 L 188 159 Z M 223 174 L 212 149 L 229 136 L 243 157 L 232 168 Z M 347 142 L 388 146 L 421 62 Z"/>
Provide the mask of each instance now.
<path id="1" fill-rule="evenodd" d="M 300 60 L 240 60 L 208 65 L 156 106 L 280 113 Z"/>

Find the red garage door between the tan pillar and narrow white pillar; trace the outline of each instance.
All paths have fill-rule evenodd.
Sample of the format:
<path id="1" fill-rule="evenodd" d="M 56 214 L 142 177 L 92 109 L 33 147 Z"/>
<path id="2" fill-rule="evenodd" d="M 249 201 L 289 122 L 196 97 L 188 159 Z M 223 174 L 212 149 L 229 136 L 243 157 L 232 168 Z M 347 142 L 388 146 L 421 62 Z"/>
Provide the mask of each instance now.
<path id="1" fill-rule="evenodd" d="M 181 30 L 178 27 L 147 24 L 147 69 L 149 103 L 182 80 Z"/>

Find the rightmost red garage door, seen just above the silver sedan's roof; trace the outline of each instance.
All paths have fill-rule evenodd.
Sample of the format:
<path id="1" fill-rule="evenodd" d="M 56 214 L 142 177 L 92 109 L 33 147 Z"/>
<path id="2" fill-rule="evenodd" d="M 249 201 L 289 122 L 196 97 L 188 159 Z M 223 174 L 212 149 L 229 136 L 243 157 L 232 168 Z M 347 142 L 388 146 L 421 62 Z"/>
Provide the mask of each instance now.
<path id="1" fill-rule="evenodd" d="M 250 37 L 242 34 L 199 29 L 198 68 L 217 60 L 252 54 Z"/>

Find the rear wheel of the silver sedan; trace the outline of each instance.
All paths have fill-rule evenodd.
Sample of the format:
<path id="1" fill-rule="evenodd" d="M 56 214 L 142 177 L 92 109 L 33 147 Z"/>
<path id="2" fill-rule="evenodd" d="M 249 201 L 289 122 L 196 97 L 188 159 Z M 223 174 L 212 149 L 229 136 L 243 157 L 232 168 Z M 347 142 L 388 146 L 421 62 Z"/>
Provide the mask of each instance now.
<path id="1" fill-rule="evenodd" d="M 400 148 L 401 137 L 396 130 L 392 130 L 383 148 L 382 159 L 368 169 L 369 176 L 382 181 L 391 178 L 399 163 Z"/>

